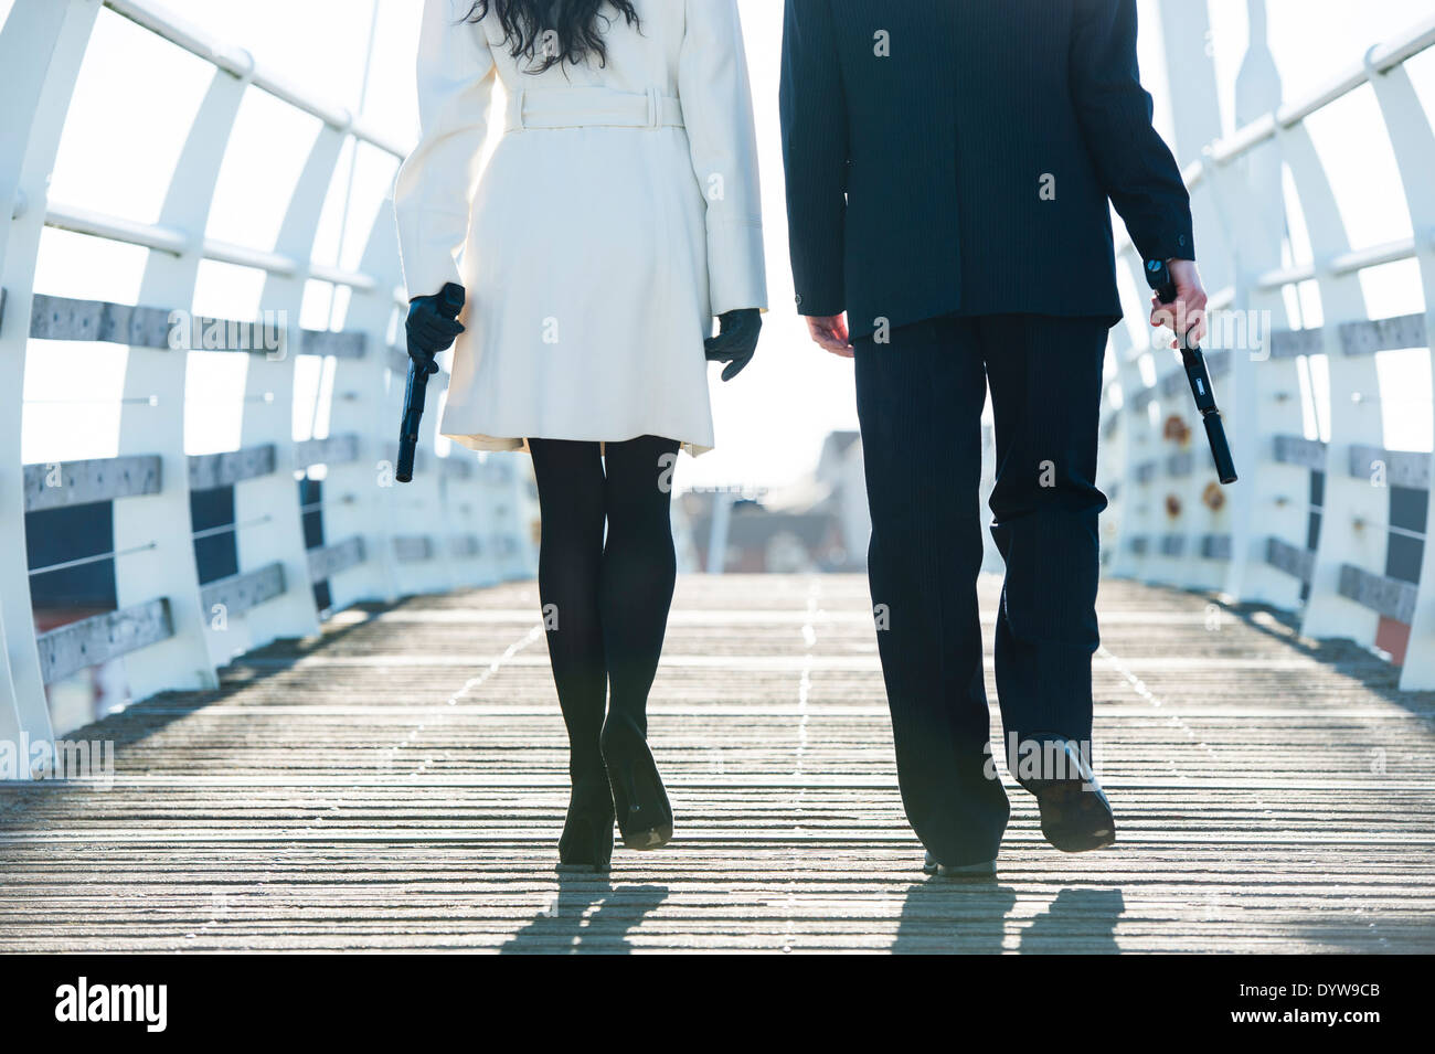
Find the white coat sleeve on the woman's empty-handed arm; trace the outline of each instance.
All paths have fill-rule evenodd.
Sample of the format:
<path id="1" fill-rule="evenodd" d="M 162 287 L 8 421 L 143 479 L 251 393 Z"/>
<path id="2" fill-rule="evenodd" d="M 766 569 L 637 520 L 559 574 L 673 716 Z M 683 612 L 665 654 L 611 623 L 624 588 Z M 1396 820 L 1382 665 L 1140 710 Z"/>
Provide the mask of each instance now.
<path id="1" fill-rule="evenodd" d="M 738 0 L 684 0 L 677 93 L 693 174 L 707 204 L 707 285 L 715 315 L 768 307 L 762 189 Z"/>

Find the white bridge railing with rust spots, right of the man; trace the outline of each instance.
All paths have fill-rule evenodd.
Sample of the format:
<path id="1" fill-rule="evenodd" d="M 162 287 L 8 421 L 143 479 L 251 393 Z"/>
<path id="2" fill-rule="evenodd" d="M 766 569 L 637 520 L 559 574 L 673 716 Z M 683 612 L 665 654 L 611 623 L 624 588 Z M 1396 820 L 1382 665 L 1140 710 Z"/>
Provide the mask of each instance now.
<path id="1" fill-rule="evenodd" d="M 1386 449 L 1385 436 L 1411 399 L 1428 403 L 1432 393 L 1382 399 L 1376 354 L 1424 350 L 1428 367 L 1435 333 L 1435 136 L 1405 67 L 1432 44 L 1435 20 L 1370 47 L 1307 99 L 1208 146 L 1185 172 L 1194 206 L 1223 235 L 1225 258 L 1213 270 L 1233 275 L 1213 295 L 1208 359 L 1240 482 L 1217 483 L 1175 354 L 1124 328 L 1104 410 L 1109 572 L 1299 609 L 1304 634 L 1349 637 L 1402 663 L 1403 688 L 1435 688 L 1435 453 Z M 1366 85 L 1412 234 L 1352 248 L 1307 119 Z M 1296 202 L 1286 201 L 1283 168 Z M 1309 260 L 1292 262 L 1289 245 L 1283 255 L 1287 205 L 1304 218 Z M 1395 261 L 1416 262 L 1425 310 L 1372 318 L 1360 275 Z M 1129 244 L 1119 264 L 1126 310 L 1144 318 Z M 1312 291 L 1317 324 L 1289 308 Z M 1313 424 L 1312 406 L 1326 419 Z"/>

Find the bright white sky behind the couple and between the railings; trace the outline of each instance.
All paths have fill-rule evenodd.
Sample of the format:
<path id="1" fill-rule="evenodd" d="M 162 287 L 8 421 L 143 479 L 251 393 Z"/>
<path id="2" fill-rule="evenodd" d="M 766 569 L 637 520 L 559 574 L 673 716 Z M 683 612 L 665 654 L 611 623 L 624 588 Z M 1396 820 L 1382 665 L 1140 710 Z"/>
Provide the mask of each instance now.
<path id="1" fill-rule="evenodd" d="M 659 0 L 649 0 L 659 1 Z M 1194 0 L 1178 0 L 1191 3 Z M 0 16 L 13 0 L 0 0 Z M 419 0 L 172 0 L 171 10 L 207 32 L 248 49 L 293 85 L 336 105 L 360 109 L 364 120 L 395 141 L 416 136 L 413 50 Z M 775 486 L 804 476 L 832 429 L 855 427 L 851 366 L 812 348 L 794 314 L 786 262 L 782 166 L 776 93 L 781 46 L 778 0 L 740 0 L 753 76 L 768 234 L 769 298 L 763 344 L 758 359 L 733 384 L 713 374 L 718 450 L 684 462 L 680 479 L 692 485 Z M 370 14 L 377 11 L 376 47 L 367 86 Z M 1431 0 L 1269 0 L 1270 39 L 1286 99 L 1307 95 L 1358 62 L 1373 43 L 1431 17 Z M 1236 72 L 1246 49 L 1247 0 L 1210 0 L 1210 52 L 1215 63 L 1224 122 L 1233 123 Z M 1170 133 L 1165 106 L 1165 65 L 1161 59 L 1157 0 L 1141 0 L 1142 67 L 1157 98 L 1158 126 Z M 1201 47 L 1192 47 L 1200 56 Z M 1409 66 L 1426 110 L 1435 113 L 1435 54 Z M 165 179 L 208 80 L 210 67 L 152 37 L 131 23 L 102 11 L 95 40 L 66 123 L 52 196 L 66 205 L 112 212 L 135 219 L 158 217 Z M 319 128 L 274 99 L 250 92 L 230 145 L 208 234 L 227 241 L 270 248 L 286 195 Z M 1352 241 L 1369 245 L 1408 237 L 1409 217 L 1401 196 L 1389 146 L 1385 143 L 1373 95 L 1362 89 L 1313 122 Z M 336 181 L 336 192 L 321 222 L 316 258 L 353 267 L 383 196 L 395 161 L 364 148 L 353 171 L 353 195 L 343 217 L 343 186 L 350 166 Z M 138 291 L 144 252 L 98 244 L 57 231 L 46 234 L 36 285 L 40 291 L 73 297 L 132 301 Z M 1052 261 L 1053 268 L 1059 261 Z M 201 275 L 195 310 L 227 317 L 251 317 L 258 308 L 261 275 L 208 264 Z M 1395 265 L 1366 284 L 1376 315 L 1421 308 L 1413 265 Z M 313 284 L 306 300 L 306 326 L 342 321 L 342 300 Z M 192 450 L 230 449 L 238 435 L 238 407 L 230 393 L 243 390 L 238 356 L 214 356 L 192 370 L 188 442 Z M 105 456 L 113 453 L 113 407 L 103 393 L 118 386 L 123 354 L 75 344 L 65 354 L 32 357 L 26 394 L 24 459 Z M 1429 391 L 1428 360 L 1424 369 Z M 88 387 L 77 390 L 76 377 Z M 301 376 L 301 394 L 313 391 L 317 376 Z M 79 391 L 76 394 L 76 391 Z M 75 400 L 88 404 L 86 427 L 75 427 Z M 63 402 L 52 402 L 63 400 Z M 321 414 L 320 414 L 321 416 Z M 307 435 L 309 416 L 296 422 Z M 1429 407 L 1418 416 L 1412 437 L 1392 445 L 1429 449 Z M 323 422 L 319 423 L 320 430 Z"/>

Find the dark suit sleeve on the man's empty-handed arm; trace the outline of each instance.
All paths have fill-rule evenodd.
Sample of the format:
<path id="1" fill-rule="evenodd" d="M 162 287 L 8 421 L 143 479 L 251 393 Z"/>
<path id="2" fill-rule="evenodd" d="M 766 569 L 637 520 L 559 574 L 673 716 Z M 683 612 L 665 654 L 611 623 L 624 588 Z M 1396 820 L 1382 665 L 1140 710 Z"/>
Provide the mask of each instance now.
<path id="1" fill-rule="evenodd" d="M 782 161 L 798 314 L 845 310 L 847 99 L 828 0 L 786 0 Z"/>

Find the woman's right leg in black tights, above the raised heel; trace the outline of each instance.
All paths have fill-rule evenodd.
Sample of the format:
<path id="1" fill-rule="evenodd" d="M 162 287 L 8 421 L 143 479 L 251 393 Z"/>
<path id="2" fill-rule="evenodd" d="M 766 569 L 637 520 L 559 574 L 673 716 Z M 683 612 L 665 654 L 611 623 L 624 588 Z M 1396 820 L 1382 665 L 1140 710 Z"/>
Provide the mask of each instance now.
<path id="1" fill-rule="evenodd" d="M 647 731 L 647 693 L 667 631 L 677 558 L 670 502 L 677 442 L 641 436 L 607 445 L 600 611 L 610 708 Z"/>

